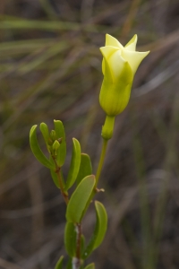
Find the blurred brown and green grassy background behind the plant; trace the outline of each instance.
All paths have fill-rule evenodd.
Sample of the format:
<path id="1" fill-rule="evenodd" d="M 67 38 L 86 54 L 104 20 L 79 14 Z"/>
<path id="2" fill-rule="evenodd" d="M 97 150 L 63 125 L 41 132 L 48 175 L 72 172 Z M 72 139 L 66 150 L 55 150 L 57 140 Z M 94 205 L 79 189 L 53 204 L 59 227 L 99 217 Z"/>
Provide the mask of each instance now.
<path id="1" fill-rule="evenodd" d="M 98 269 L 179 268 L 179 2 L 177 0 L 0 1 L 0 268 L 52 269 L 64 250 L 62 196 L 32 156 L 30 127 L 64 122 L 94 173 L 105 114 L 99 47 L 109 33 L 138 34 L 141 63 L 97 196 L 107 237 L 88 262 Z M 39 143 L 44 146 L 39 134 Z M 94 227 L 91 206 L 83 231 Z"/>

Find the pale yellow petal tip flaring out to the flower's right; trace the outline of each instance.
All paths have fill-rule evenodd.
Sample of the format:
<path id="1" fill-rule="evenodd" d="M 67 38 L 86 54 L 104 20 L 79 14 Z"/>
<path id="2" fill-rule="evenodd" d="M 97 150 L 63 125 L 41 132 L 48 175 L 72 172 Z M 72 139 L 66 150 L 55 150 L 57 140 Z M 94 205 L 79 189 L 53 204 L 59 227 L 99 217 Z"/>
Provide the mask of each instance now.
<path id="1" fill-rule="evenodd" d="M 130 51 L 130 50 L 123 50 L 122 56 L 124 59 L 129 63 L 132 68 L 133 75 L 136 73 L 138 66 L 141 64 L 141 61 L 145 56 L 149 54 L 147 52 L 138 52 L 138 51 Z"/>

